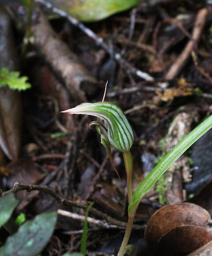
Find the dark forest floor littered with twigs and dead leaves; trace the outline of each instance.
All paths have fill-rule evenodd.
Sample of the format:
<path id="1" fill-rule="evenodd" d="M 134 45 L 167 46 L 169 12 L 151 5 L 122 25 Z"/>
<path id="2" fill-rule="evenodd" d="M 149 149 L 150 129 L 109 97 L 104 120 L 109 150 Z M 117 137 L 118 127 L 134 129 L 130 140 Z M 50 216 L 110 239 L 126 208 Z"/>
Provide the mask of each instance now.
<path id="1" fill-rule="evenodd" d="M 32 85 L 22 92 L 0 88 L 0 189 L 20 200 L 14 218 L 57 212 L 54 233 L 40 255 L 80 251 L 91 202 L 87 255 L 116 255 L 127 222 L 121 152 L 112 150 L 119 179 L 99 134 L 89 128 L 95 119 L 61 111 L 101 102 L 108 81 L 105 101 L 121 107 L 133 128 L 135 191 L 155 164 L 212 112 L 210 4 L 146 0 L 101 21 L 74 24 L 65 13 L 48 19 L 59 9 L 43 1 L 34 4 L 28 45 L 23 4 L 11 0 L 0 8 L 0 68 L 19 70 Z M 211 159 L 208 131 L 151 187 L 137 210 L 130 238 L 134 255 L 155 255 L 151 248 L 159 250 L 156 255 L 187 255 L 212 240 L 212 231 L 203 239 L 205 229 L 190 230 L 187 222 L 179 224 L 186 226 L 183 232 L 174 233 L 174 225 L 171 234 L 161 233 L 160 241 L 144 237 L 148 220 L 164 205 L 189 202 L 212 214 Z M 178 209 L 201 218 L 187 206 L 179 204 L 159 218 L 159 225 L 182 218 Z M 186 232 L 190 237 L 183 237 Z M 13 233 L 1 228 L 0 245 Z M 194 233 L 196 247 L 189 242 Z"/>

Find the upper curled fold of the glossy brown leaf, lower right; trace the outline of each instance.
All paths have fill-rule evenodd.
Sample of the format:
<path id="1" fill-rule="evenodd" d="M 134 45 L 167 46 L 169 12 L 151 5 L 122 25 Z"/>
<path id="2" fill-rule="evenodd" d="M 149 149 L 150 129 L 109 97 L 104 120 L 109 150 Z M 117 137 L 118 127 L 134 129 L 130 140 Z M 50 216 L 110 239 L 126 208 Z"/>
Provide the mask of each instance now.
<path id="1" fill-rule="evenodd" d="M 176 203 L 162 207 L 153 214 L 145 230 L 145 238 L 152 251 L 166 233 L 182 225 L 205 227 L 211 217 L 201 206 Z"/>

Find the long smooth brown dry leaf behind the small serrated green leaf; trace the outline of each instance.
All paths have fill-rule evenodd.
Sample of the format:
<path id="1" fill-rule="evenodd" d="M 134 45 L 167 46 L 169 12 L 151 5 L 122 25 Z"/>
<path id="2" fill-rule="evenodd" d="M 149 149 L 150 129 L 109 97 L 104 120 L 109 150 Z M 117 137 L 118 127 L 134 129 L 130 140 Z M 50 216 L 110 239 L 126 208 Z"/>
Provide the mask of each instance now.
<path id="1" fill-rule="evenodd" d="M 2 8 L 0 17 L 0 68 L 17 70 L 18 55 L 11 19 Z M 0 88 L 0 147 L 11 160 L 17 159 L 20 150 L 21 115 L 20 93 L 7 87 Z"/>

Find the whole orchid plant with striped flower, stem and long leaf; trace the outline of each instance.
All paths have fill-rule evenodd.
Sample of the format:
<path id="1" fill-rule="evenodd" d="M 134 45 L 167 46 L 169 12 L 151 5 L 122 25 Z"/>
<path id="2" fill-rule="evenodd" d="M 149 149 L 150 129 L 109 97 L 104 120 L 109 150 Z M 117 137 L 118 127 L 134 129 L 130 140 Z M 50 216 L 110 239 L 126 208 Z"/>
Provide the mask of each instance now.
<path id="1" fill-rule="evenodd" d="M 106 92 L 106 90 L 105 90 Z M 105 97 L 105 94 L 104 94 Z M 140 183 L 134 194 L 132 194 L 132 171 L 133 160 L 130 148 L 133 144 L 133 131 L 125 117 L 123 111 L 114 103 L 83 103 L 77 107 L 62 111 L 68 114 L 93 115 L 104 121 L 99 120 L 91 122 L 91 125 L 97 125 L 97 130 L 101 134 L 99 126 L 106 130 L 106 135 L 101 134 L 101 143 L 110 151 L 110 147 L 119 149 L 123 153 L 125 169 L 127 174 L 127 192 L 128 192 L 128 223 L 121 247 L 117 256 L 124 256 L 127 250 L 128 255 L 132 255 L 132 248 L 128 247 L 130 233 L 133 228 L 136 210 L 144 194 L 155 184 L 164 172 L 180 157 L 195 141 L 212 128 L 212 115 L 206 118 L 199 126 L 192 130 L 188 135 L 182 138 L 177 145 L 153 168 L 148 176 Z M 112 158 L 111 152 L 110 156 Z"/>

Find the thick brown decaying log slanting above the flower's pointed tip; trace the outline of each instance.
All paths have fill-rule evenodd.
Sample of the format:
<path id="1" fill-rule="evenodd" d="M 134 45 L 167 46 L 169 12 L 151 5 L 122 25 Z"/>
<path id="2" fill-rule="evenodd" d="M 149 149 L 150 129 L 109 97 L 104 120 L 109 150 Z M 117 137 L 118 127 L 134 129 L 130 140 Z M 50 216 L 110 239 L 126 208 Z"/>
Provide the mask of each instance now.
<path id="1" fill-rule="evenodd" d="M 85 93 L 80 89 L 80 85 L 82 83 L 97 84 L 97 81 L 80 63 L 76 54 L 72 53 L 58 38 L 42 11 L 38 12 L 37 18 L 33 21 L 32 32 L 39 51 L 58 76 L 64 80 L 72 98 L 77 103 L 86 102 Z"/>

